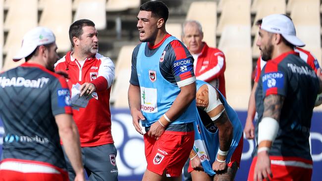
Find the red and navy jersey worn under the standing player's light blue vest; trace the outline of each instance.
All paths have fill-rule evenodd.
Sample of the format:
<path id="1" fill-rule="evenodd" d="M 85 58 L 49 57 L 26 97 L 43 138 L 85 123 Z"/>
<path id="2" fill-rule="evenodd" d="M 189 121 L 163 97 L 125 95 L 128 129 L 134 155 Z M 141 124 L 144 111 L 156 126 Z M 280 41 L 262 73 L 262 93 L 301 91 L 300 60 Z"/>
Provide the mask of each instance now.
<path id="1" fill-rule="evenodd" d="M 162 41 L 157 45 L 150 46 L 147 44 L 145 47 L 145 55 L 148 57 L 152 56 L 157 52 L 164 40 L 170 36 L 171 35 L 169 34 L 164 36 Z M 136 71 L 136 57 L 138 55 L 140 45 L 141 44 L 137 45 L 132 53 L 132 72 L 130 83 L 135 86 L 139 86 L 138 74 Z M 165 80 L 178 85 L 179 88 L 188 85 L 187 83 L 189 83 L 189 80 L 194 78 L 195 75 L 193 72 L 193 57 L 186 46 L 178 40 L 174 40 L 169 43 L 165 47 L 160 58 L 160 71 Z"/>

